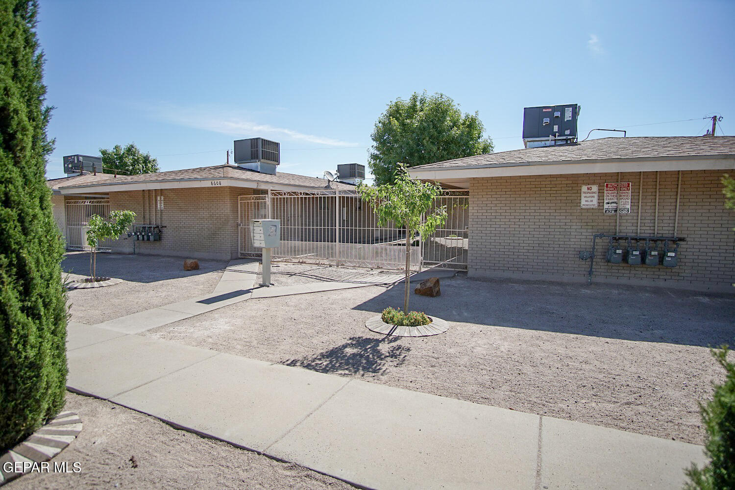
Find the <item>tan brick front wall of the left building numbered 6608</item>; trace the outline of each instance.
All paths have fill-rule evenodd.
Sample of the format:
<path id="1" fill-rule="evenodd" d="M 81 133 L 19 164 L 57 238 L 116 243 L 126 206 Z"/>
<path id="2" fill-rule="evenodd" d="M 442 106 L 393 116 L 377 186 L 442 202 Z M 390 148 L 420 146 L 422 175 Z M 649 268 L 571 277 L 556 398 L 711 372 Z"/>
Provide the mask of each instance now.
<path id="1" fill-rule="evenodd" d="M 237 196 L 251 193 L 238 187 L 110 192 L 110 210 L 130 209 L 137 215 L 135 224 L 154 224 L 155 218 L 155 224 L 165 226 L 159 242 L 135 242 L 137 253 L 234 259 Z M 155 211 L 155 195 L 163 197 L 161 211 Z M 133 239 L 118 240 L 113 251 L 132 253 Z"/>

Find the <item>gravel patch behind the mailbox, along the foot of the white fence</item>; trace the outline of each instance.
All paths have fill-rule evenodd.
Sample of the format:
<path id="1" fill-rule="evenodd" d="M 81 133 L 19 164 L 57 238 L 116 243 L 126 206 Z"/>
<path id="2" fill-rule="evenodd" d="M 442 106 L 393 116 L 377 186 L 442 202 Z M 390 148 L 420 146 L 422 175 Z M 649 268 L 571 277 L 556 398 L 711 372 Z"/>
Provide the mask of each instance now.
<path id="1" fill-rule="evenodd" d="M 329 265 L 273 262 L 270 264 L 270 282 L 273 286 L 296 286 L 313 282 L 375 282 L 395 276 L 395 270 L 365 269 L 360 267 L 332 267 Z M 401 274 L 398 272 L 398 274 Z M 258 267 L 255 284 L 262 283 L 262 267 Z"/>

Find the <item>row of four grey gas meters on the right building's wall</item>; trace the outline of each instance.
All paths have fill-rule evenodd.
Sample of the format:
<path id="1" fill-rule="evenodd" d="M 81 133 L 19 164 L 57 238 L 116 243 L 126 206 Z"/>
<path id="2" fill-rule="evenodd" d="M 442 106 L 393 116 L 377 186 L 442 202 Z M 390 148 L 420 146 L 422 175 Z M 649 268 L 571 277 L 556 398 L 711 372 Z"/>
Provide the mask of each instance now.
<path id="1" fill-rule="evenodd" d="M 678 265 L 679 242 L 683 239 L 660 239 L 645 237 L 610 237 L 607 248 L 607 262 L 629 265 Z M 620 242 L 623 242 L 621 245 Z M 634 244 L 635 242 L 635 244 Z M 641 248 L 641 242 L 644 246 Z M 664 242 L 663 254 L 659 253 L 659 242 Z"/>

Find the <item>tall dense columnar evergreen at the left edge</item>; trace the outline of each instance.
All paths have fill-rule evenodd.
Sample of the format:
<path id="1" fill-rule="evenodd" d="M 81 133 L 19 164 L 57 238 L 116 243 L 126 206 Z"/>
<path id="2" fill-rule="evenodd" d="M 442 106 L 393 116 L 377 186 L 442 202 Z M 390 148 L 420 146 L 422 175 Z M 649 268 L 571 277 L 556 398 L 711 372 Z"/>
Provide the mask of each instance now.
<path id="1" fill-rule="evenodd" d="M 43 51 L 37 1 L 0 0 L 0 452 L 63 408 L 64 242 L 46 187 Z"/>

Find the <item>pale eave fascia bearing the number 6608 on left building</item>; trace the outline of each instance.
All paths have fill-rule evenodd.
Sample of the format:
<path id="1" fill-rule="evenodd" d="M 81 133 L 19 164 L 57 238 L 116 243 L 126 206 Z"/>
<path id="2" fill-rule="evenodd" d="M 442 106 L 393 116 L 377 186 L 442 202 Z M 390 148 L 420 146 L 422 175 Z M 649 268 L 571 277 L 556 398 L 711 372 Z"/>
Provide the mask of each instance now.
<path id="1" fill-rule="evenodd" d="M 112 179 L 111 179 L 112 180 Z M 175 179 L 175 180 L 153 180 L 153 181 L 133 181 L 133 182 L 98 182 L 94 184 L 82 184 L 74 186 L 65 186 L 60 188 L 62 195 L 76 195 L 89 192 L 121 192 L 128 190 L 153 190 L 153 189 L 193 189 L 201 187 L 243 187 L 246 189 L 262 189 L 262 190 L 306 190 L 320 189 L 320 187 L 299 185 L 299 184 L 276 184 L 273 182 L 260 182 L 245 179 L 235 179 L 234 177 L 212 177 L 212 178 L 196 178 L 196 179 Z"/>

